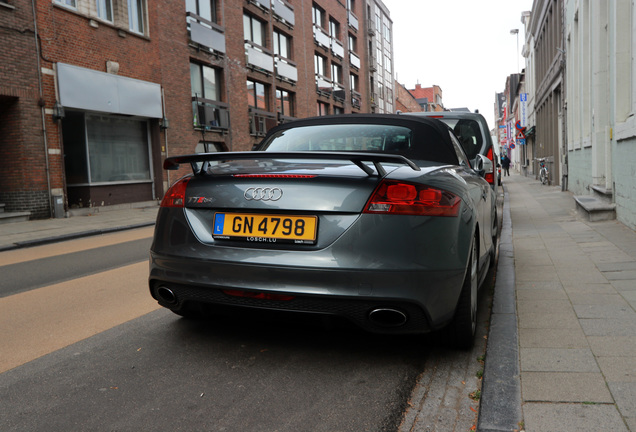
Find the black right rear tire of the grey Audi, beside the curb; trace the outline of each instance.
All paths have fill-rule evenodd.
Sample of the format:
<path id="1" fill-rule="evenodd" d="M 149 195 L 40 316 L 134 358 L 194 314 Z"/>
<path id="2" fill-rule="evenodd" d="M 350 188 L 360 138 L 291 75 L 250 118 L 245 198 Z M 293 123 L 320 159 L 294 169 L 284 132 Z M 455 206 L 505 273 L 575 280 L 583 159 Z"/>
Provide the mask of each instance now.
<path id="1" fill-rule="evenodd" d="M 453 321 L 446 327 L 448 345 L 468 350 L 475 343 L 477 331 L 477 239 L 473 238 L 464 284 L 459 295 Z"/>

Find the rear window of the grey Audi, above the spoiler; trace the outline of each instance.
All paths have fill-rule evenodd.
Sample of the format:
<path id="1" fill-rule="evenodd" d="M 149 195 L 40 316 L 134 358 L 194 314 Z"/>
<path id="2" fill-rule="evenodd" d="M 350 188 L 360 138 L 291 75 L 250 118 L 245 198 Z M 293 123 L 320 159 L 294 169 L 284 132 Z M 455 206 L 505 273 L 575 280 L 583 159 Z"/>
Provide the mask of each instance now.
<path id="1" fill-rule="evenodd" d="M 409 159 L 457 164 L 457 157 L 427 127 L 335 124 L 281 130 L 264 142 L 265 151 L 333 151 L 399 154 Z"/>

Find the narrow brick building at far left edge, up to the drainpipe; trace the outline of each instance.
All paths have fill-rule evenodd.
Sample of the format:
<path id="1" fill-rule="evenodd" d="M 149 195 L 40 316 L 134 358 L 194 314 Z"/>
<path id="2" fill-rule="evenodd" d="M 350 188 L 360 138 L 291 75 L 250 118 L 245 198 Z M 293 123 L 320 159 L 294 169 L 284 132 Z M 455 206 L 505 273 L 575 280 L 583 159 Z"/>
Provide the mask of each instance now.
<path id="1" fill-rule="evenodd" d="M 7 212 L 50 216 L 47 143 L 30 2 L 0 2 L 0 204 Z"/>

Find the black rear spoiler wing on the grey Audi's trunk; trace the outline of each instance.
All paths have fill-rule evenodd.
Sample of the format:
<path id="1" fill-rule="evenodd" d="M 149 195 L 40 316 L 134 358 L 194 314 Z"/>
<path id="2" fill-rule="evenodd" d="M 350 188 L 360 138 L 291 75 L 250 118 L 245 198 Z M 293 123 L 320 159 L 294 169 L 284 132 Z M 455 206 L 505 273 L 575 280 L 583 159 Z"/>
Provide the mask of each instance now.
<path id="1" fill-rule="evenodd" d="M 353 152 L 219 152 L 219 153 L 198 153 L 185 156 L 174 156 L 163 161 L 163 169 L 176 170 L 182 163 L 189 163 L 192 166 L 192 172 L 195 174 L 203 173 L 207 170 L 207 162 L 213 161 L 230 161 L 243 159 L 303 159 L 303 160 L 345 160 L 351 161 L 367 175 L 377 175 L 384 177 L 386 171 L 382 167 L 382 162 L 400 163 L 411 167 L 414 171 L 420 171 L 420 167 L 415 165 L 413 161 L 396 154 L 383 153 L 353 153 Z M 202 166 L 197 164 L 203 162 Z M 372 162 L 376 171 L 365 162 Z"/>

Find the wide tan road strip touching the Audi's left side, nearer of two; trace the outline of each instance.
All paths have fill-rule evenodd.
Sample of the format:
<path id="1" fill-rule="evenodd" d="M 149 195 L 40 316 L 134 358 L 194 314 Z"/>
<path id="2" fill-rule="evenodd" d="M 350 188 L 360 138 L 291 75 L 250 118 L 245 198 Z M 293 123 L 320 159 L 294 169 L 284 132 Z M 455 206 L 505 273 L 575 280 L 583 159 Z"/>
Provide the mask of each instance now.
<path id="1" fill-rule="evenodd" d="M 0 373 L 158 308 L 148 262 L 0 298 Z"/>

